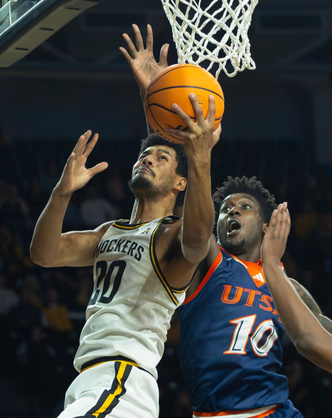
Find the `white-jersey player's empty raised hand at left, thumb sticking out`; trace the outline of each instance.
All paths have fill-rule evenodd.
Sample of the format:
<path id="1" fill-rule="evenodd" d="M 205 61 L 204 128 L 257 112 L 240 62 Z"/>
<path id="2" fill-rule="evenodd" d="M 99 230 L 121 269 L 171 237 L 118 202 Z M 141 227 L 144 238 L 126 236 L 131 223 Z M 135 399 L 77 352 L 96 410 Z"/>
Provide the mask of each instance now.
<path id="1" fill-rule="evenodd" d="M 85 186 L 95 174 L 108 167 L 108 163 L 104 161 L 92 168 L 86 168 L 86 160 L 98 140 L 98 133 L 96 133 L 88 143 L 91 134 L 91 130 L 88 130 L 84 135 L 81 135 L 73 152 L 70 154 L 60 181 L 56 185 L 60 196 L 70 196 L 75 190 Z"/>

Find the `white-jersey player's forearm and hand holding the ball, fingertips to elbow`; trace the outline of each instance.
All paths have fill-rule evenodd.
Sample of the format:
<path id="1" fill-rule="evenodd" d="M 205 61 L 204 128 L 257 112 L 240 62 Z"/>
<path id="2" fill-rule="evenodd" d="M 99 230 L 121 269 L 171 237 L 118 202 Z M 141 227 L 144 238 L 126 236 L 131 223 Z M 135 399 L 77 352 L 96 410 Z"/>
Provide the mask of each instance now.
<path id="1" fill-rule="evenodd" d="M 211 150 L 219 140 L 221 126 L 214 130 L 216 103 L 209 98 L 209 112 L 204 113 L 195 94 L 189 95 L 196 122 L 177 105 L 173 110 L 181 117 L 188 130 L 166 129 L 167 133 L 182 138 L 184 152 L 188 157 L 189 171 L 183 219 L 179 240 L 184 257 L 190 263 L 200 263 L 210 249 L 210 237 L 214 226 L 214 206 L 211 197 Z"/>

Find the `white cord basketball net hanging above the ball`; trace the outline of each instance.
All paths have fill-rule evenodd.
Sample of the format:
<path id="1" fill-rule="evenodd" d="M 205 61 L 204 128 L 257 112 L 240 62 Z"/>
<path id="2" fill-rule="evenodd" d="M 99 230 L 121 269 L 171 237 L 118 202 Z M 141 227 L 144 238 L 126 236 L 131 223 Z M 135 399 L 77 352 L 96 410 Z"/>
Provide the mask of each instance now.
<path id="1" fill-rule="evenodd" d="M 258 0 L 161 0 L 172 26 L 179 64 L 210 61 L 216 79 L 221 70 L 234 77 L 237 71 L 256 68 L 250 56 L 248 29 Z"/>

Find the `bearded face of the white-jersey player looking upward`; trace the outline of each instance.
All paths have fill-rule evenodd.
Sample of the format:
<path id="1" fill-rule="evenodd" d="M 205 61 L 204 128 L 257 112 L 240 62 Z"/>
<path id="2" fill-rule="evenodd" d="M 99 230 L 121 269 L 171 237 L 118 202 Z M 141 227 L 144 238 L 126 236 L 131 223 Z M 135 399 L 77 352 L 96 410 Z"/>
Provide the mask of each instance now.
<path id="1" fill-rule="evenodd" d="M 133 166 L 129 186 L 136 196 L 148 199 L 170 193 L 176 186 L 176 151 L 164 145 L 148 147 Z"/>

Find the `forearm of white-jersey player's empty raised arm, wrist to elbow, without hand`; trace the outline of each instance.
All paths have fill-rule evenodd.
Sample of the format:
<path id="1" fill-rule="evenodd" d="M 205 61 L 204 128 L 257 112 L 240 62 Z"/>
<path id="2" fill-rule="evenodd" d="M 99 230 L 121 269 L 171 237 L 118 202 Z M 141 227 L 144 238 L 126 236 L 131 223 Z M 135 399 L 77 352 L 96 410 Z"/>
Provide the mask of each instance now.
<path id="1" fill-rule="evenodd" d="M 60 196 L 58 189 L 52 192 L 48 204 L 41 213 L 33 232 L 30 256 L 33 262 L 47 266 L 58 250 L 61 239 L 62 223 L 70 196 Z"/>

